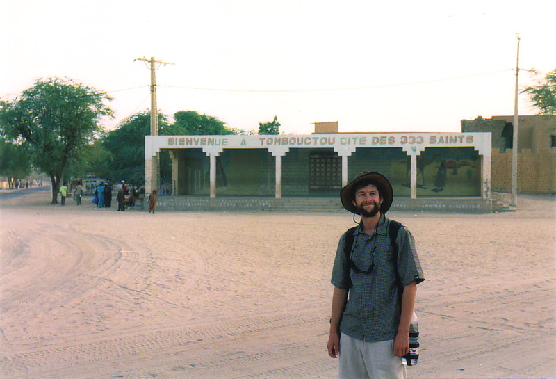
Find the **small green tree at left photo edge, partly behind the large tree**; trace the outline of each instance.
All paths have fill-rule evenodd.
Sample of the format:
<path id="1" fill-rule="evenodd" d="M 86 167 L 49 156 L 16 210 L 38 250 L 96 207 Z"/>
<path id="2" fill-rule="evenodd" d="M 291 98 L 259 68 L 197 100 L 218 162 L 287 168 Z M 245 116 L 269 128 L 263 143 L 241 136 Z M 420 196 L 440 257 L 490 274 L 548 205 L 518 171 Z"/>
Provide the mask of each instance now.
<path id="1" fill-rule="evenodd" d="M 0 175 L 6 177 L 8 186 L 31 172 L 31 159 L 25 145 L 0 141 Z"/>

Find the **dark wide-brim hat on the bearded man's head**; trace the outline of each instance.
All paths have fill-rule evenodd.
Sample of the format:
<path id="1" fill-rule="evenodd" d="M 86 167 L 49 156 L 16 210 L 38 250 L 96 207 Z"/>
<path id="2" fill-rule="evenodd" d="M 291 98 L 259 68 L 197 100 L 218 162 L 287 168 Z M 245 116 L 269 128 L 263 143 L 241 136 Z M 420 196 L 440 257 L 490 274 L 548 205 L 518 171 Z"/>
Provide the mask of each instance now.
<path id="1" fill-rule="evenodd" d="M 361 174 L 357 175 L 355 179 L 346 184 L 346 186 L 340 191 L 340 198 L 342 200 L 343 207 L 352 213 L 359 214 L 357 207 L 353 204 L 353 200 L 355 188 L 357 188 L 357 186 L 362 182 L 368 182 L 378 188 L 379 195 L 382 197 L 380 213 L 386 213 L 392 205 L 394 191 L 389 180 L 378 172 L 361 172 Z"/>

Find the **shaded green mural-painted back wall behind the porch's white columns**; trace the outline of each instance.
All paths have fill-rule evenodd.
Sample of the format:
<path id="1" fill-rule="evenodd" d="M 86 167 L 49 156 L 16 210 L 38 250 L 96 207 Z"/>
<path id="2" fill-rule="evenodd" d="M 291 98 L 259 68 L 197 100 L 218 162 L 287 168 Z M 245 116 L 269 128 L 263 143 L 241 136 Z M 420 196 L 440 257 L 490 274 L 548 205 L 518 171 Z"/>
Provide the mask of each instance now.
<path id="1" fill-rule="evenodd" d="M 199 149 L 175 150 L 172 156 L 173 193 L 208 195 L 208 156 Z M 348 179 L 364 171 L 382 172 L 398 196 L 409 196 L 410 161 L 401 147 L 358 147 L 347 157 Z M 282 194 L 337 195 L 341 162 L 332 148 L 290 149 L 282 159 Z M 417 179 L 419 196 L 480 196 L 480 157 L 473 147 L 427 147 L 418 156 Z M 275 156 L 267 149 L 224 150 L 216 158 L 216 189 L 218 195 L 274 195 Z"/>

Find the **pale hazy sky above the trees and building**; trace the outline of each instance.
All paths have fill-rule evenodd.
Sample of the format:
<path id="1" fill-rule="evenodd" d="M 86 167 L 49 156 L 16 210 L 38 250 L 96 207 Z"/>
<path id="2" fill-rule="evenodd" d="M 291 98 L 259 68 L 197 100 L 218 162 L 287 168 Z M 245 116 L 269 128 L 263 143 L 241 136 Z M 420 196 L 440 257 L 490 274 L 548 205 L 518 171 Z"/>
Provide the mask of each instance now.
<path id="1" fill-rule="evenodd" d="M 67 76 L 113 97 L 118 122 L 150 107 L 281 132 L 459 131 L 512 115 L 520 67 L 556 67 L 553 0 L 0 0 L 0 96 Z M 520 84 L 532 83 L 521 70 Z M 520 95 L 520 114 L 534 114 Z"/>

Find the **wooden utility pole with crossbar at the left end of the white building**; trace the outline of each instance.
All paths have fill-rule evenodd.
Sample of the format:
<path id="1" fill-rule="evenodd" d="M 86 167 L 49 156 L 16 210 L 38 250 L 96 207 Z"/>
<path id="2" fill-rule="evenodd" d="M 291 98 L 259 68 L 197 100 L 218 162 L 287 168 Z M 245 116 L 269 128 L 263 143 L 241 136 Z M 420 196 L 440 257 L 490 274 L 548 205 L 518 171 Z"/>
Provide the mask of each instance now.
<path id="1" fill-rule="evenodd" d="M 156 61 L 154 56 L 150 59 L 137 58 L 133 61 L 144 61 L 150 63 L 151 68 L 151 136 L 158 136 L 158 108 L 156 106 L 156 64 L 171 65 L 172 63 Z M 158 188 L 160 184 L 160 164 L 158 153 L 151 156 L 150 159 L 145 158 L 145 194 L 151 193 L 153 189 Z"/>

